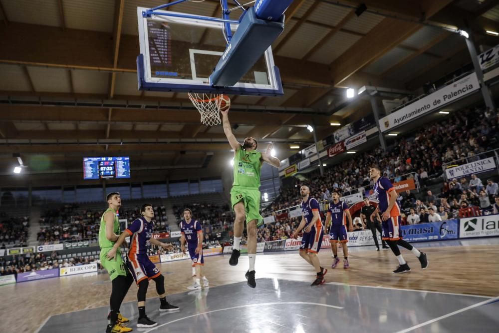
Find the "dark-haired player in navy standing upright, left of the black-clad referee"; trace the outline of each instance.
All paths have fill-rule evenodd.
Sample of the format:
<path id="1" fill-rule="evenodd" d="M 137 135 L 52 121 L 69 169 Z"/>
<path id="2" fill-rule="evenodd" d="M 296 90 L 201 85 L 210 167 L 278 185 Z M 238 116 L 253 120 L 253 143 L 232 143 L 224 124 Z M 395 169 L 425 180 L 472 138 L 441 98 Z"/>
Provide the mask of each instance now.
<path id="1" fill-rule="evenodd" d="M 340 194 L 338 191 L 333 191 L 332 193 L 333 202 L 329 205 L 326 217 L 326 228 L 331 223 L 331 228 L 329 229 L 329 242 L 331 243 L 331 250 L 333 251 L 333 264 L 331 268 L 336 268 L 336 265 L 340 262 L 338 258 L 338 245 L 337 242 L 341 243 L 343 247 L 343 268 L 348 268 L 348 233 L 347 233 L 347 218 L 348 218 L 348 231 L 353 231 L 352 216 L 350 215 L 350 209 L 344 201 L 340 201 Z"/>

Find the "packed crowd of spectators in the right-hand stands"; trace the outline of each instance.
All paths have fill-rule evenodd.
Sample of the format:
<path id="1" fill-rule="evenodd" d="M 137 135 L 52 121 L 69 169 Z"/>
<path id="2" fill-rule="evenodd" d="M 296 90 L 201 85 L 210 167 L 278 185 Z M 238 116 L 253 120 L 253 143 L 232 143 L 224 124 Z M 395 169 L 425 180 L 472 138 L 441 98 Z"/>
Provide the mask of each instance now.
<path id="1" fill-rule="evenodd" d="M 314 171 L 307 175 L 307 181 L 295 180 L 294 186 L 291 184 L 287 188 L 281 187 L 278 198 L 269 206 L 268 211 L 298 205 L 301 201 L 301 185 L 310 188 L 312 197 L 324 201 L 331 200 L 333 190 L 346 195 L 362 188 L 360 191 L 365 193 L 365 189 L 373 186 L 369 177 L 369 169 L 373 165 L 380 167 L 383 175 L 392 182 L 414 178 L 425 187 L 430 179 L 442 180 L 440 176 L 443 174 L 444 163 L 482 159 L 486 157 L 484 153 L 494 149 L 498 142 L 497 110 L 487 108 L 457 111 L 452 117 L 422 127 L 411 137 L 402 137 L 390 145 L 386 152 L 376 148 L 327 168 L 323 176 Z M 490 186 L 489 190 L 487 186 Z M 434 199 L 433 202 L 423 200 L 420 204 L 413 198 L 414 194 L 411 194 L 410 200 L 406 199 L 406 194 L 399 197 L 399 203 L 406 210 L 406 215 L 410 215 L 411 208 L 415 210 L 415 214 L 423 215 L 422 221 L 437 219 L 433 217 L 434 214 L 446 216 L 442 209 L 448 217 L 469 216 L 479 214 L 483 209 L 491 209 L 491 203 L 498 192 L 497 183 L 491 179 L 487 181 L 487 186 L 476 176 L 471 179 L 462 178 L 444 183 L 441 193 L 431 198 Z M 430 208 L 433 208 L 433 213 Z M 425 210 L 424 214 L 422 209 Z"/>

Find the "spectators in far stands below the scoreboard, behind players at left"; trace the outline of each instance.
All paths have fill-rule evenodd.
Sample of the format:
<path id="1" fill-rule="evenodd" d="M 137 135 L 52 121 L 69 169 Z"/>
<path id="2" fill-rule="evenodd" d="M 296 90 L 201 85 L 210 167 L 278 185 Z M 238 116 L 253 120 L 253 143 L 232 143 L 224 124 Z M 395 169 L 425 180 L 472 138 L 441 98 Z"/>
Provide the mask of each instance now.
<path id="1" fill-rule="evenodd" d="M 154 205 L 153 209 L 154 230 L 169 232 L 165 206 Z M 77 204 L 66 204 L 60 208 L 49 209 L 40 218 L 40 225 L 43 227 L 38 232 L 37 240 L 40 245 L 68 240 L 97 240 L 103 213 L 103 210 L 80 209 Z M 118 214 L 119 219 L 126 219 L 128 224 L 142 216 L 138 206 L 122 208 Z"/>

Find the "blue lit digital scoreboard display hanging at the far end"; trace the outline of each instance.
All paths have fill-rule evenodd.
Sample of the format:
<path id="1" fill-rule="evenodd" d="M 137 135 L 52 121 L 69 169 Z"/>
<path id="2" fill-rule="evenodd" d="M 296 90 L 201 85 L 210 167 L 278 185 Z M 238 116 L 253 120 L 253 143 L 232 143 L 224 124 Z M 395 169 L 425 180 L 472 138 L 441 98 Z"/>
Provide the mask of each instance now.
<path id="1" fill-rule="evenodd" d="M 83 179 L 130 178 L 130 157 L 84 157 Z"/>

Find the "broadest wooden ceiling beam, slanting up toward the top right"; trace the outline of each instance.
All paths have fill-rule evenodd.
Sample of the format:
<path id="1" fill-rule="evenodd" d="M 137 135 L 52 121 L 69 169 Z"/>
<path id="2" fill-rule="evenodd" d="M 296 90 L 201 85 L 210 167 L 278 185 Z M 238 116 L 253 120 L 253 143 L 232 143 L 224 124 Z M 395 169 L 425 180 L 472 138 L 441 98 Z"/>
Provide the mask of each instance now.
<path id="1" fill-rule="evenodd" d="M 423 0 L 421 8 L 426 17 L 431 17 L 450 2 L 452 0 Z M 422 25 L 418 23 L 384 18 L 331 63 L 330 76 L 333 85 L 339 85 L 364 66 L 376 61 L 421 27 Z"/>

